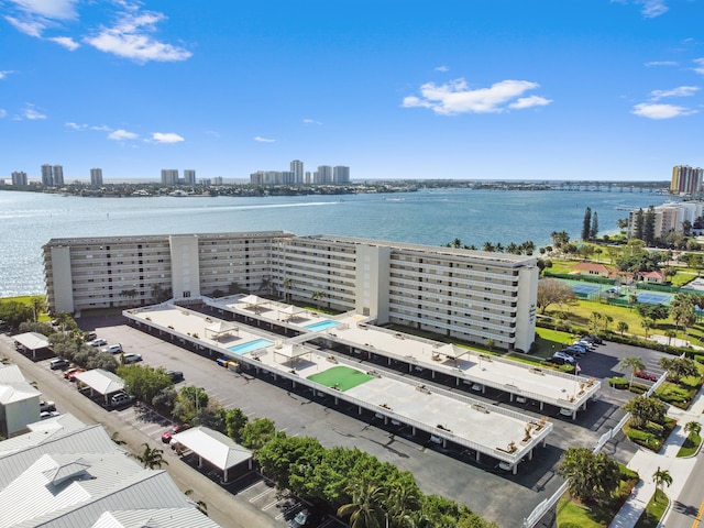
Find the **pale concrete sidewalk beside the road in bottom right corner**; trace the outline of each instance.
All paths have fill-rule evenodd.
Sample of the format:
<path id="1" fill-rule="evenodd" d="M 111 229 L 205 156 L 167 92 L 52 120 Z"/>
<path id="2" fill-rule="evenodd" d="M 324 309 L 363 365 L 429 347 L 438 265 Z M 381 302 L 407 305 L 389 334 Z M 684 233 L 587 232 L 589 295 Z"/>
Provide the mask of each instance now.
<path id="1" fill-rule="evenodd" d="M 686 439 L 684 426 L 688 421 L 698 421 L 702 424 L 702 411 L 704 410 L 704 396 L 700 393 L 694 398 L 689 410 L 681 410 L 676 407 L 670 407 L 668 416 L 678 420 L 678 425 L 668 438 L 659 453 L 653 453 L 645 448 L 640 448 L 638 452 L 628 463 L 628 469 L 637 471 L 640 475 L 640 482 L 634 488 L 630 497 L 620 508 L 614 520 L 608 525 L 609 528 L 632 528 L 640 515 L 645 512 L 646 506 L 656 493 L 656 485 L 652 482 L 652 474 L 660 470 L 667 470 L 672 476 L 672 485 L 666 488 L 670 502 L 674 502 L 682 492 L 694 464 L 696 458 L 679 459 L 678 452 L 682 443 Z M 668 516 L 666 513 L 661 524 Z"/>

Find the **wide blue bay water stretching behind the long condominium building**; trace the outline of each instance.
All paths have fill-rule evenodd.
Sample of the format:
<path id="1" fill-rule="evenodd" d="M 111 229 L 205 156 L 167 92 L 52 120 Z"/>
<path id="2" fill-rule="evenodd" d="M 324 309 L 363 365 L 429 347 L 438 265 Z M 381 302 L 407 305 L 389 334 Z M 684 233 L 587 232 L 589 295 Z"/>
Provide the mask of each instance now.
<path id="1" fill-rule="evenodd" d="M 429 189 L 392 195 L 266 198 L 80 198 L 0 191 L 0 297 L 44 293 L 42 245 L 52 238 L 284 230 L 444 245 L 552 242 L 582 231 L 584 210 L 600 233 L 618 231 L 622 209 L 668 197 L 630 191 Z"/>

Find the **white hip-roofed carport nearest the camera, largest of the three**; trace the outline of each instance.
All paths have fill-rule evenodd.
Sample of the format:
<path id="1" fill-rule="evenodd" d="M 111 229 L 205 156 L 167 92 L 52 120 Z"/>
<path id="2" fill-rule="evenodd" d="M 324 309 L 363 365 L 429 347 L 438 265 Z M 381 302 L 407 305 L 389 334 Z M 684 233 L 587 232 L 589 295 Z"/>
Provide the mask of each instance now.
<path id="1" fill-rule="evenodd" d="M 249 462 L 248 466 L 250 470 L 252 469 L 252 451 L 243 448 L 230 437 L 207 427 L 194 427 L 178 432 L 172 438 L 198 455 L 198 468 L 202 468 L 202 461 L 207 460 L 222 471 L 223 484 L 229 482 L 230 470 L 242 462 Z"/>

